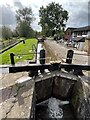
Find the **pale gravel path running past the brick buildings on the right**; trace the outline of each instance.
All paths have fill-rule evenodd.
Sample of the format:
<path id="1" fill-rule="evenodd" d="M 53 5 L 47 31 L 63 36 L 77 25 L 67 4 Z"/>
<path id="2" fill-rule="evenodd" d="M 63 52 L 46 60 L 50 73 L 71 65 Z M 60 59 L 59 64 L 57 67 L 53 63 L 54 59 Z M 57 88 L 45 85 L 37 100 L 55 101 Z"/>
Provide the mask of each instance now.
<path id="1" fill-rule="evenodd" d="M 52 53 L 55 54 L 56 60 L 66 59 L 67 51 L 73 48 L 67 48 L 63 44 L 57 44 L 56 41 L 46 40 L 45 44 L 51 49 Z M 74 49 L 73 49 L 74 50 Z M 73 64 L 90 64 L 90 56 L 87 56 L 86 52 L 74 50 Z"/>

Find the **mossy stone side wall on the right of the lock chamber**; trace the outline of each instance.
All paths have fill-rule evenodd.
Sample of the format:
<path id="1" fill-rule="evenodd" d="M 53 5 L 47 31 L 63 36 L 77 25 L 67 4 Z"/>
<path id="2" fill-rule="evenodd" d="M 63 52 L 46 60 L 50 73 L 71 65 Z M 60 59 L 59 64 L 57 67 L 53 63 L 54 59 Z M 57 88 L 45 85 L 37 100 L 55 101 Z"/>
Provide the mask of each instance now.
<path id="1" fill-rule="evenodd" d="M 71 99 L 78 120 L 90 120 L 90 84 L 78 80 Z"/>

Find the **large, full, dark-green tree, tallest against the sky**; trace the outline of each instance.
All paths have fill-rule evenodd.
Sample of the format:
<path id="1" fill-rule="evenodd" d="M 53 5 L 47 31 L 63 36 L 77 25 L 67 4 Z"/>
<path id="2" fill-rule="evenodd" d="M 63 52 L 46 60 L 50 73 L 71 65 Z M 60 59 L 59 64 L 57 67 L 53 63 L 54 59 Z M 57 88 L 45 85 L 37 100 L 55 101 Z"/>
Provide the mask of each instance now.
<path id="1" fill-rule="evenodd" d="M 62 5 L 52 2 L 46 8 L 43 6 L 40 7 L 39 17 L 42 32 L 54 35 L 65 28 L 68 20 L 68 12 L 62 8 Z"/>

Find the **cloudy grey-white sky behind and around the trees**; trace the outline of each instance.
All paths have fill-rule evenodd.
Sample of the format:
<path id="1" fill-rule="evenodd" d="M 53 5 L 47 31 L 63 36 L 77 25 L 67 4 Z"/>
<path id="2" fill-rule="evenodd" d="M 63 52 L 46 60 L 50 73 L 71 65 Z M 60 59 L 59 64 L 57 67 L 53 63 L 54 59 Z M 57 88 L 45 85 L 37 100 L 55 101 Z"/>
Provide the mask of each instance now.
<path id="1" fill-rule="evenodd" d="M 32 23 L 34 30 L 41 31 L 39 22 L 39 9 L 43 5 L 47 6 L 51 2 L 59 3 L 63 9 L 69 12 L 67 27 L 83 27 L 90 22 L 90 0 L 0 0 L 0 25 L 16 26 L 15 11 L 24 7 L 31 7 L 35 20 Z"/>

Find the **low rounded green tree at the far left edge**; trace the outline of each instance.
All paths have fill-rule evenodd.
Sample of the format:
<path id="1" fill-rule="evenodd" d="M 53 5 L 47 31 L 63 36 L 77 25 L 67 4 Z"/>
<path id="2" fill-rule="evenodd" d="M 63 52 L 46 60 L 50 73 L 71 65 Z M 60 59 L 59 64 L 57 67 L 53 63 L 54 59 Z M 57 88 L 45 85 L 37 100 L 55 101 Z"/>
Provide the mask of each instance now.
<path id="1" fill-rule="evenodd" d="M 12 31 L 9 27 L 2 26 L 2 38 L 8 40 L 12 37 Z"/>

